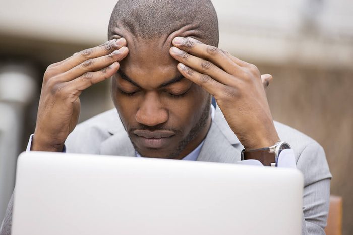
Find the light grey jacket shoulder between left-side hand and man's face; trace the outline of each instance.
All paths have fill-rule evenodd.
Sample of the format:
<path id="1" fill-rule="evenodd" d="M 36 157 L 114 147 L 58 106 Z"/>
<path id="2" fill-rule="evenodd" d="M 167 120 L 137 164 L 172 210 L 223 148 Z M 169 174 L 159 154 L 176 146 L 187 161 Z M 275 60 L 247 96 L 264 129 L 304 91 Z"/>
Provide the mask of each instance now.
<path id="1" fill-rule="evenodd" d="M 75 127 L 65 141 L 66 151 L 99 154 L 100 144 L 122 129 L 116 109 L 100 113 Z"/>

